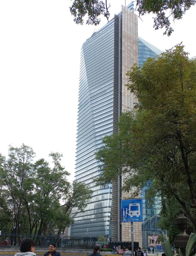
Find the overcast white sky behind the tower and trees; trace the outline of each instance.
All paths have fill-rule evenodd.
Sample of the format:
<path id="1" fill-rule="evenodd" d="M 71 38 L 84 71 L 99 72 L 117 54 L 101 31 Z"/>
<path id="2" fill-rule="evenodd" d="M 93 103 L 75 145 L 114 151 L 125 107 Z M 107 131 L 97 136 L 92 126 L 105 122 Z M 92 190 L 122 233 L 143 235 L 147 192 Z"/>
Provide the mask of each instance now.
<path id="1" fill-rule="evenodd" d="M 124 0 L 110 0 L 111 18 Z M 130 1 L 126 0 L 129 4 Z M 0 1 L 0 152 L 25 143 L 36 158 L 61 152 L 74 175 L 80 50 L 99 26 L 76 25 L 69 0 Z M 138 35 L 161 50 L 183 41 L 196 56 L 192 7 L 173 24 L 170 37 L 153 29 L 152 16 L 138 22 Z"/>

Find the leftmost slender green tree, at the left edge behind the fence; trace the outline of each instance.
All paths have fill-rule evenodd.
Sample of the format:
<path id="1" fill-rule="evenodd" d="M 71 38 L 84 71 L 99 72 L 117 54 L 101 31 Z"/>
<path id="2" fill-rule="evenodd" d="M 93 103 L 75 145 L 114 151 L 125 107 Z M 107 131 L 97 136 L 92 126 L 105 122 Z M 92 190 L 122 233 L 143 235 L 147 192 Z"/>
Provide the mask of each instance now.
<path id="1" fill-rule="evenodd" d="M 12 200 L 12 232 L 20 234 L 20 218 L 23 212 L 23 199 L 26 193 L 25 181 L 32 175 L 31 161 L 35 153 L 31 147 L 9 148 L 8 160 L 2 158 L 1 177 Z M 20 242 L 20 236 L 19 236 Z M 16 237 L 14 241 L 16 245 Z"/>

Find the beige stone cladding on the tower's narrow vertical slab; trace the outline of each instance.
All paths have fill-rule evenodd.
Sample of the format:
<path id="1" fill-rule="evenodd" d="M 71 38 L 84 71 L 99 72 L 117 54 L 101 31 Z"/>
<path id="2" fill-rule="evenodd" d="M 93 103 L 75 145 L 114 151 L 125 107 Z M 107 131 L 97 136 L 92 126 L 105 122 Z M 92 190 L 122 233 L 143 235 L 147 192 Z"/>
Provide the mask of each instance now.
<path id="1" fill-rule="evenodd" d="M 122 6 L 122 92 L 121 92 L 121 111 L 132 110 L 137 101 L 135 95 L 127 90 L 125 84 L 128 83 L 126 73 L 135 64 L 138 64 L 138 33 L 137 15 L 131 10 Z M 125 177 L 122 176 L 122 182 Z M 121 199 L 131 197 L 130 193 L 121 193 Z M 142 247 L 141 223 L 133 224 L 133 237 L 135 242 L 139 242 Z M 131 224 L 121 223 L 121 240 L 131 241 Z"/>

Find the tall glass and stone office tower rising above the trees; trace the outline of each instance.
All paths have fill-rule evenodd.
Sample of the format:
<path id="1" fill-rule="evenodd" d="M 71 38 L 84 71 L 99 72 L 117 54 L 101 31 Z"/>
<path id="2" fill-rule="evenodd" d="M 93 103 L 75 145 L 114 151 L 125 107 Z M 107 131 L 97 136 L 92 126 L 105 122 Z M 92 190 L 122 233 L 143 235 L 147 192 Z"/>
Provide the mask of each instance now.
<path id="1" fill-rule="evenodd" d="M 138 39 L 133 3 L 122 6 L 122 11 L 82 46 L 75 180 L 88 185 L 93 197 L 85 211 L 75 217 L 73 236 L 103 235 L 112 241 L 130 241 L 129 224 L 120 226 L 119 202 L 125 196 L 118 190 L 121 181 L 96 186 L 94 178 L 100 175 L 100 163 L 95 152 L 104 136 L 117 132 L 120 112 L 132 109 L 136 101 L 126 89 L 126 72 L 134 63 L 142 64 L 148 56 L 157 54 L 160 51 Z M 141 245 L 140 234 L 141 223 L 135 223 L 134 240 Z"/>

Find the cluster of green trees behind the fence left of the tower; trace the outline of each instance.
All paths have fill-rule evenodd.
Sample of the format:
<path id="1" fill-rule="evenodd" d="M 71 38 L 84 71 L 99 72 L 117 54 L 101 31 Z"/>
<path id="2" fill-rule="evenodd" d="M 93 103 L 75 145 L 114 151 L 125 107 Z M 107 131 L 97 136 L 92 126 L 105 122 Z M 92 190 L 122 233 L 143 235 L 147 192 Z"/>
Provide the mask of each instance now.
<path id="1" fill-rule="evenodd" d="M 73 222 L 72 210 L 76 214 L 83 211 L 92 191 L 82 183 L 68 182 L 61 154 L 49 154 L 52 167 L 45 159 L 33 162 L 34 156 L 33 149 L 23 144 L 10 147 L 8 159 L 0 158 L 0 227 L 31 236 L 58 229 L 59 238 Z M 20 242 L 20 236 L 18 239 Z"/>

